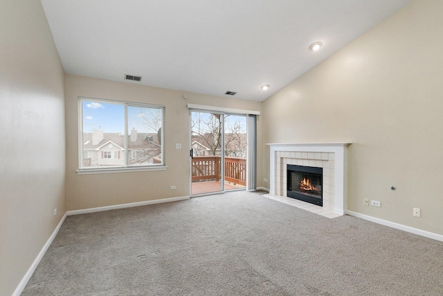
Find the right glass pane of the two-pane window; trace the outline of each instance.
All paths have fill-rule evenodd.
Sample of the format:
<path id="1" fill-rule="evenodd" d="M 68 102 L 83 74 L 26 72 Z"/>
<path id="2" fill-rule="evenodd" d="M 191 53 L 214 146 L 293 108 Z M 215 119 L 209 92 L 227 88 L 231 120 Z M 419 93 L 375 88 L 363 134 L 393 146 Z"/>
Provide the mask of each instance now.
<path id="1" fill-rule="evenodd" d="M 162 163 L 161 117 L 159 108 L 127 107 L 128 165 Z"/>

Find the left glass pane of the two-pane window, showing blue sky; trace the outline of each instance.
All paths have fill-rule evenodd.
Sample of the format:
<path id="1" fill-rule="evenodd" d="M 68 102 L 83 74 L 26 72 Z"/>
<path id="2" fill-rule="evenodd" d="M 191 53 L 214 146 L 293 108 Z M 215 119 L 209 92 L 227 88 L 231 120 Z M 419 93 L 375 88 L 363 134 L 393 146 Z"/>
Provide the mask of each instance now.
<path id="1" fill-rule="evenodd" d="M 124 166 L 125 105 L 82 101 L 82 113 L 82 167 Z"/>

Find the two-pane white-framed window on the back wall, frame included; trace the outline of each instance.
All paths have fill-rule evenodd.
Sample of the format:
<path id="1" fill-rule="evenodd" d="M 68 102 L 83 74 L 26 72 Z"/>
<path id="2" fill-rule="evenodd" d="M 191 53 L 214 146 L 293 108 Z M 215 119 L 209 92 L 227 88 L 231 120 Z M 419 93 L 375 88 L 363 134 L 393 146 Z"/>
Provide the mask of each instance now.
<path id="1" fill-rule="evenodd" d="M 164 166 L 164 106 L 79 98 L 79 110 L 79 172 Z"/>

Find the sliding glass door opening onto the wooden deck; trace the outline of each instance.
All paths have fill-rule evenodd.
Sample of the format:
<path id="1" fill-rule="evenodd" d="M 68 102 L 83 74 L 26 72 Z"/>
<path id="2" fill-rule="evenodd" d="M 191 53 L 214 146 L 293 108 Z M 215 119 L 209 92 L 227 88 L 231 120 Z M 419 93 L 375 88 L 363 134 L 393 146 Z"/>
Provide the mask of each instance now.
<path id="1" fill-rule="evenodd" d="M 246 188 L 246 115 L 190 111 L 191 195 Z"/>

